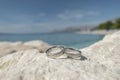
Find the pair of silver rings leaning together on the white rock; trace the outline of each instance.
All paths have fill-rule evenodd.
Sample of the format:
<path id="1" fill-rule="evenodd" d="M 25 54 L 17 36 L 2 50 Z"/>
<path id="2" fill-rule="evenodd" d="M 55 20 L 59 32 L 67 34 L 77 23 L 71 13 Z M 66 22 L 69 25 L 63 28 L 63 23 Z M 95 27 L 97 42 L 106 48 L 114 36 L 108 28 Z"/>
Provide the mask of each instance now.
<path id="1" fill-rule="evenodd" d="M 53 46 L 46 50 L 46 54 L 50 58 L 60 57 L 63 54 L 66 54 L 68 58 L 78 58 L 81 56 L 81 51 L 64 46 Z"/>

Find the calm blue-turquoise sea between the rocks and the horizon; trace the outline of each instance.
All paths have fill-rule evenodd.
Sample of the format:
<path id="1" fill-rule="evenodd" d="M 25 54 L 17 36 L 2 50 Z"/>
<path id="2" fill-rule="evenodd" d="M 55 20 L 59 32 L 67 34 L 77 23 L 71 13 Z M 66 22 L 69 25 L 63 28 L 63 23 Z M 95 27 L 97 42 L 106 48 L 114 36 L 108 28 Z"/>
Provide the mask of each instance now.
<path id="1" fill-rule="evenodd" d="M 73 48 L 84 48 L 99 40 L 103 35 L 54 33 L 54 34 L 0 34 L 0 41 L 43 40 L 52 45 L 66 45 Z"/>

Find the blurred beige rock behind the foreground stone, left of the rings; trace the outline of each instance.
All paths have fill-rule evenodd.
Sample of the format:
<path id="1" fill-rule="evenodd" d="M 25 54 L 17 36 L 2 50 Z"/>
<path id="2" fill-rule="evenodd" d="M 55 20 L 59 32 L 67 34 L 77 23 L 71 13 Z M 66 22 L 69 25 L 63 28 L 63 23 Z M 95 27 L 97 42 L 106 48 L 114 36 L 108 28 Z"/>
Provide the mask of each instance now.
<path id="1" fill-rule="evenodd" d="M 38 49 L 44 52 L 50 47 L 49 44 L 43 41 L 28 41 L 28 42 L 0 42 L 0 57 L 21 50 Z"/>

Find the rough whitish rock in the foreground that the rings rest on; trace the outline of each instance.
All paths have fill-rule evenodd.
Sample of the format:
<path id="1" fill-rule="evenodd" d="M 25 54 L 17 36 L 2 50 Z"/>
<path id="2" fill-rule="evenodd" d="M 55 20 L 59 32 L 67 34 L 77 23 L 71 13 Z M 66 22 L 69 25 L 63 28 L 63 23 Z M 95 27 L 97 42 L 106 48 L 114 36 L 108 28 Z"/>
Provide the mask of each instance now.
<path id="1" fill-rule="evenodd" d="M 0 58 L 0 80 L 120 80 L 120 32 L 82 49 L 82 55 L 87 60 L 21 50 Z"/>

